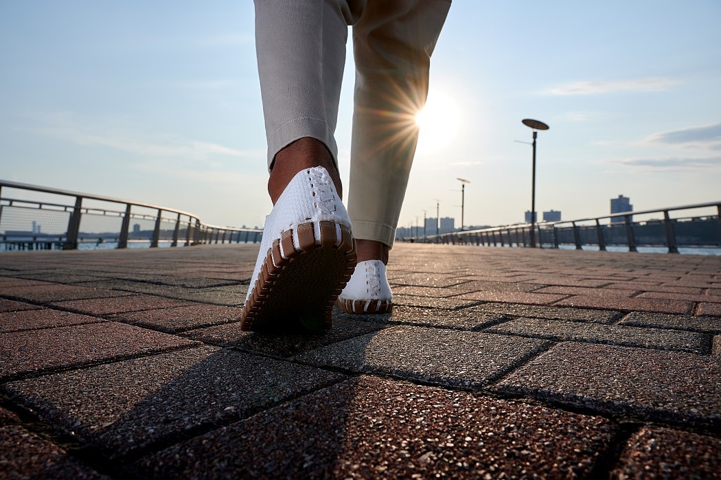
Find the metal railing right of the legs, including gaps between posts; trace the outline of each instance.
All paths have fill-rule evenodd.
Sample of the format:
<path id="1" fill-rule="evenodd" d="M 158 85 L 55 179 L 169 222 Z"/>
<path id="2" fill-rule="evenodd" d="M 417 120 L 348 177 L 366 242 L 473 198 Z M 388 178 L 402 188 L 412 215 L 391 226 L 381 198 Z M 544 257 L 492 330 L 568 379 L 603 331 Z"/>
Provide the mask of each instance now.
<path id="1" fill-rule="evenodd" d="M 715 208 L 715 214 L 672 218 L 684 210 Z M 633 221 L 634 216 L 663 215 L 646 221 Z M 604 223 L 606 222 L 606 223 Z M 663 246 L 669 253 L 678 253 L 679 246 L 721 247 L 721 202 L 699 203 L 658 210 L 614 213 L 601 217 L 571 221 L 523 223 L 479 230 L 456 231 L 448 234 L 416 238 L 423 243 L 471 244 L 483 246 L 531 246 L 531 228 L 536 228 L 539 246 L 559 248 L 562 245 L 627 246 L 637 252 L 639 246 Z M 403 239 L 408 240 L 408 239 Z"/>

